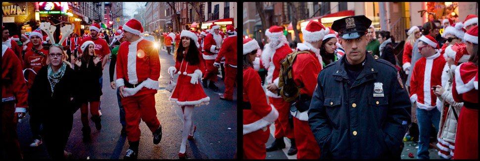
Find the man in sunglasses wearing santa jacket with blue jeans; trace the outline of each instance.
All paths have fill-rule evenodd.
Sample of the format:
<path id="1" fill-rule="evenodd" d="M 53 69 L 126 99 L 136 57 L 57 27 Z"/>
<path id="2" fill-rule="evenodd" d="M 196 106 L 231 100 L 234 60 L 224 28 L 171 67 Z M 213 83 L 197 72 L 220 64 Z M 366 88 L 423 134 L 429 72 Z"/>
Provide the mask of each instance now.
<path id="1" fill-rule="evenodd" d="M 420 131 L 418 159 L 429 159 L 430 130 L 432 123 L 438 131 L 442 103 L 433 94 L 432 86 L 441 85 L 442 69 L 445 58 L 440 56 L 440 46 L 432 36 L 422 36 L 418 43 L 422 55 L 412 71 L 410 81 L 410 101 L 416 102 L 417 120 Z M 436 109 L 435 109 L 436 108 Z"/>

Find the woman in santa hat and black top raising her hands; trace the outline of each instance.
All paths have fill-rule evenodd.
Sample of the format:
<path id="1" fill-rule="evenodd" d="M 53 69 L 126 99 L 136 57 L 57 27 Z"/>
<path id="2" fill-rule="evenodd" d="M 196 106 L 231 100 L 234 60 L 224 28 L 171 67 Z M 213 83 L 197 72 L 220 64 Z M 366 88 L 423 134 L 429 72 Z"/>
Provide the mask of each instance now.
<path id="1" fill-rule="evenodd" d="M 90 103 L 90 113 L 92 114 L 92 121 L 95 122 L 96 130 L 101 129 L 101 119 L 98 113 L 98 105 L 100 96 L 102 95 L 100 82 L 98 79 L 102 76 L 101 57 L 95 54 L 95 43 L 93 41 L 86 41 L 82 44 L 80 49 L 83 54 L 75 60 L 75 71 L 80 77 L 80 107 L 82 118 L 82 134 L 83 141 L 90 141 L 90 125 L 88 120 L 88 111 Z"/>

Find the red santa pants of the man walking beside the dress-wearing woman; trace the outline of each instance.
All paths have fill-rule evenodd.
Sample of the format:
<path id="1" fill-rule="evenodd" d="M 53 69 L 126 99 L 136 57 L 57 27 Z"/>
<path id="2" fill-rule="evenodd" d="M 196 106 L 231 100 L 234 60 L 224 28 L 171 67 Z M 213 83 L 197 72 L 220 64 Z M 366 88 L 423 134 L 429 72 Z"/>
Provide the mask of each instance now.
<path id="1" fill-rule="evenodd" d="M 155 110 L 155 95 L 129 96 L 122 99 L 125 108 L 125 121 L 127 122 L 127 139 L 135 142 L 140 140 L 139 120 L 142 118 L 153 133 L 160 127 Z"/>

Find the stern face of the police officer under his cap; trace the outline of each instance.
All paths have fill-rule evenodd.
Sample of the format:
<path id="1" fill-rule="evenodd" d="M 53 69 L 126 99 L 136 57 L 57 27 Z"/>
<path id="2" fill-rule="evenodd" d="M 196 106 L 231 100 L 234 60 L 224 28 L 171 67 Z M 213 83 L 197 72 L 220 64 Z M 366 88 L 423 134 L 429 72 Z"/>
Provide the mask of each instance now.
<path id="1" fill-rule="evenodd" d="M 365 59 L 367 41 L 367 35 L 356 39 L 340 39 L 340 45 L 345 50 L 345 55 L 349 63 L 358 64 Z"/>

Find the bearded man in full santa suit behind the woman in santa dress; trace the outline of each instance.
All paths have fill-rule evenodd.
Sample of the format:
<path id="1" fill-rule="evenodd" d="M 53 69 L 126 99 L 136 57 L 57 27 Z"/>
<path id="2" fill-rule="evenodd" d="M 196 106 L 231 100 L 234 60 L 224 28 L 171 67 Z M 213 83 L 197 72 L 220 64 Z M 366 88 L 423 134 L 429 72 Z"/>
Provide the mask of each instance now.
<path id="1" fill-rule="evenodd" d="M 217 72 L 218 68 L 213 66 L 215 62 L 215 58 L 217 58 L 218 51 L 220 51 L 220 47 L 222 46 L 222 35 L 218 32 L 220 31 L 220 26 L 213 24 L 210 29 L 210 33 L 205 37 L 203 41 L 203 59 L 205 59 L 205 67 L 206 73 L 203 76 L 202 83 L 205 88 L 211 89 L 218 89 L 215 86 L 215 82 L 217 81 Z M 210 84 L 207 87 L 207 80 L 210 80 Z"/>

